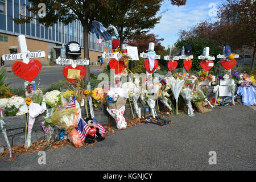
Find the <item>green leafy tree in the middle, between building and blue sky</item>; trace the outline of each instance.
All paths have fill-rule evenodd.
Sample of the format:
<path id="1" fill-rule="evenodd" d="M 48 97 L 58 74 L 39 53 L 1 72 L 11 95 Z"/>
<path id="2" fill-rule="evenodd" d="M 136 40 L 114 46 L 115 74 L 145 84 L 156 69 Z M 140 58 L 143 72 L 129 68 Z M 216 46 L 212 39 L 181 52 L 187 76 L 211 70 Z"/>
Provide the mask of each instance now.
<path id="1" fill-rule="evenodd" d="M 108 16 L 102 17 L 102 23 L 109 27 L 110 34 L 119 39 L 120 47 L 125 39 L 133 35 L 146 34 L 159 23 L 160 15 L 156 15 L 163 0 L 109 0 L 106 5 Z M 185 0 L 171 0 L 172 5 L 185 5 Z M 111 18 L 110 18 L 111 17 Z"/>

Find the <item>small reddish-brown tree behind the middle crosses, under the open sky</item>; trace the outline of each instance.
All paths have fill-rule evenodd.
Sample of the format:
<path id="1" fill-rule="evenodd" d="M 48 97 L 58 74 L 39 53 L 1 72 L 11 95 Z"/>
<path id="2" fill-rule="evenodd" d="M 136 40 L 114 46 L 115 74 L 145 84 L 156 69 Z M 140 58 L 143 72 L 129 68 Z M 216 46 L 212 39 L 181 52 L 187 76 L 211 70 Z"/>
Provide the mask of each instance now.
<path id="1" fill-rule="evenodd" d="M 152 42 L 155 43 L 155 52 L 160 54 L 163 53 L 164 47 L 161 45 L 160 41 L 164 39 L 157 39 L 158 35 L 155 34 L 142 34 L 142 35 L 134 35 L 132 39 L 125 40 L 124 43 L 129 46 L 138 47 L 138 52 L 146 52 L 148 49 L 148 45 Z"/>

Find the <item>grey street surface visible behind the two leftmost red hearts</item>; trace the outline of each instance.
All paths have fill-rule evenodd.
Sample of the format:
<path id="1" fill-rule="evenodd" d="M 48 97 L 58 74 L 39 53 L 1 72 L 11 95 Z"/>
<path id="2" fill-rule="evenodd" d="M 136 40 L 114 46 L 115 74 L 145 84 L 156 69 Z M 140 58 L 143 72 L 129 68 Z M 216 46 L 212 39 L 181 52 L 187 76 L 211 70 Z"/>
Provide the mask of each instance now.
<path id="1" fill-rule="evenodd" d="M 98 67 L 100 66 L 91 66 L 90 67 L 90 73 L 100 73 L 100 71 L 97 71 Z M 42 86 L 43 88 L 48 88 L 49 85 L 51 85 L 53 82 L 63 80 L 65 79 L 62 70 L 64 66 L 57 66 L 57 67 L 49 67 L 49 68 L 42 68 L 39 75 L 36 76 L 34 81 L 36 82 L 36 86 Z M 24 80 L 22 78 L 19 78 L 16 76 L 13 72 L 7 73 L 7 83 L 11 83 L 10 86 L 18 88 L 20 86 L 24 87 Z"/>

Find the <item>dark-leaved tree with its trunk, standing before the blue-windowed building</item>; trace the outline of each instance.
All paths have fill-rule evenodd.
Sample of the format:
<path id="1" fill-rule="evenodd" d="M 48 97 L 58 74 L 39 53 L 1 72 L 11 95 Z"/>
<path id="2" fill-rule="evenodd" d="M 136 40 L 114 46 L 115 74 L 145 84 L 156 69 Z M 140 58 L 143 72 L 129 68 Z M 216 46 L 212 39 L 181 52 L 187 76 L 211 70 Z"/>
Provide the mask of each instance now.
<path id="1" fill-rule="evenodd" d="M 39 23 L 45 24 L 47 27 L 57 23 L 58 20 L 64 24 L 68 24 L 73 20 L 80 20 L 84 28 L 84 59 L 89 59 L 88 35 L 93 20 L 98 20 L 104 14 L 106 0 L 30 0 L 32 7 L 27 6 L 28 11 L 31 11 L 32 16 L 20 16 L 14 19 L 15 23 L 29 23 L 35 18 L 40 10 L 39 3 L 46 5 L 46 16 L 36 16 Z M 85 80 L 90 79 L 90 67 L 85 65 L 86 75 Z"/>

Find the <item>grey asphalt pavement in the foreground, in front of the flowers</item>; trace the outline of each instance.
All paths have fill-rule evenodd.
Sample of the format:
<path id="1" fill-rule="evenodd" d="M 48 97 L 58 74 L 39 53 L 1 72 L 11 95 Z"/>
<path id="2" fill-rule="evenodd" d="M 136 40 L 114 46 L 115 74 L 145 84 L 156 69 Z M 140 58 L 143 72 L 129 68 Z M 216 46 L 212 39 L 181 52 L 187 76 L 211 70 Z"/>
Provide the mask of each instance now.
<path id="1" fill-rule="evenodd" d="M 255 106 L 226 106 L 170 119 L 167 126 L 139 124 L 110 133 L 90 147 L 52 148 L 45 165 L 31 161 L 36 153 L 20 154 L 11 162 L 0 158 L 0 170 L 255 171 Z M 216 164 L 209 164 L 210 151 L 216 152 Z"/>

